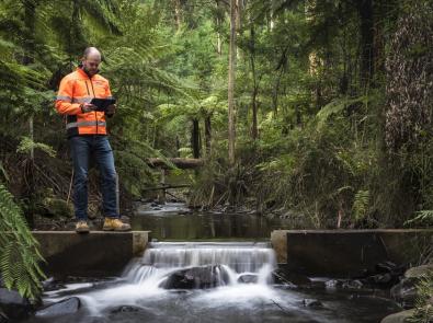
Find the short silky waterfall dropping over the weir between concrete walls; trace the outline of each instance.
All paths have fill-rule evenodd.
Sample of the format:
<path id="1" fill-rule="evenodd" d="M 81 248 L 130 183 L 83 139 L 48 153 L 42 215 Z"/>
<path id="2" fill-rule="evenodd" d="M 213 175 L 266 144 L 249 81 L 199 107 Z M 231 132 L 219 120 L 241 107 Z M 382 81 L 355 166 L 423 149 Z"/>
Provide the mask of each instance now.
<path id="1" fill-rule="evenodd" d="M 129 264 L 123 277 L 132 284 L 153 288 L 175 273 L 186 273 L 186 277 L 204 276 L 204 279 L 213 275 L 216 279 L 213 287 L 240 282 L 263 285 L 272 281 L 275 267 L 275 254 L 267 243 L 160 242 L 150 243 L 143 257 Z M 201 277 L 191 279 L 203 280 Z"/>

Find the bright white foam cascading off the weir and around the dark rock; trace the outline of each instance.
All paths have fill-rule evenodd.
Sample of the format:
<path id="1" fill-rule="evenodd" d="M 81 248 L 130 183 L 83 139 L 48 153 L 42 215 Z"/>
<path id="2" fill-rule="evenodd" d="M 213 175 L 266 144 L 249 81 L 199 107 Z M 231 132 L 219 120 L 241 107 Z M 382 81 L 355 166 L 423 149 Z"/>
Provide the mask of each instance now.
<path id="1" fill-rule="evenodd" d="M 125 268 L 122 284 L 77 296 L 91 315 L 100 315 L 104 309 L 116 305 L 141 307 L 149 298 L 175 296 L 160 287 L 171 274 L 205 266 L 215 270 L 219 287 L 201 292 L 192 301 L 239 302 L 275 297 L 269 284 L 276 259 L 266 243 L 151 243 L 143 257 Z M 249 284 L 238 281 L 244 275 L 249 276 Z"/>

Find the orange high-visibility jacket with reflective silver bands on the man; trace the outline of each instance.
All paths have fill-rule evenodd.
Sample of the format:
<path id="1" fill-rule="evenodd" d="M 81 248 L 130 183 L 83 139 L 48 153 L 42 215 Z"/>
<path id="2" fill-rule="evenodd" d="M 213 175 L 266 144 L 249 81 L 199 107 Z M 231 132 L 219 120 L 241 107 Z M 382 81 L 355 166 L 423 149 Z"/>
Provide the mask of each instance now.
<path id="1" fill-rule="evenodd" d="M 60 82 L 56 97 L 56 109 L 66 115 L 68 138 L 78 135 L 106 135 L 104 112 L 82 113 L 80 104 L 90 103 L 93 97 L 111 99 L 110 84 L 100 74 L 92 78 L 78 68 Z"/>

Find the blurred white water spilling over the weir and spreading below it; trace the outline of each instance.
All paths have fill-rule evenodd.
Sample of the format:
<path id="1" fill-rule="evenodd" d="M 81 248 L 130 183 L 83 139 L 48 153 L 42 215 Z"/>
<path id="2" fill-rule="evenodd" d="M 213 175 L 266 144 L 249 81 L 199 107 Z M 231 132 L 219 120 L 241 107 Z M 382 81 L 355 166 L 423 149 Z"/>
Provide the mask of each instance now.
<path id="1" fill-rule="evenodd" d="M 379 322 L 396 311 L 392 302 L 371 295 L 273 285 L 275 266 L 266 243 L 151 243 L 119 278 L 44 295 L 46 304 L 79 297 L 77 313 L 25 322 L 356 323 Z M 194 284 L 200 284 L 197 277 L 210 279 L 212 288 L 163 288 L 172 277 Z M 322 307 L 306 307 L 306 299 L 320 300 Z"/>

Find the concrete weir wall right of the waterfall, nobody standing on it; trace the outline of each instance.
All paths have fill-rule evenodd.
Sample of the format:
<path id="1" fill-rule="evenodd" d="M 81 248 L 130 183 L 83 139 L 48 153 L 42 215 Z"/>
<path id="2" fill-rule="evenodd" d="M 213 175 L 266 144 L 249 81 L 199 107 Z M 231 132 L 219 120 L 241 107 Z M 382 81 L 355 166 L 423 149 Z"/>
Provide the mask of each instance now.
<path id="1" fill-rule="evenodd" d="M 341 276 L 384 261 L 417 263 L 433 245 L 433 229 L 275 230 L 271 243 L 288 270 Z"/>

